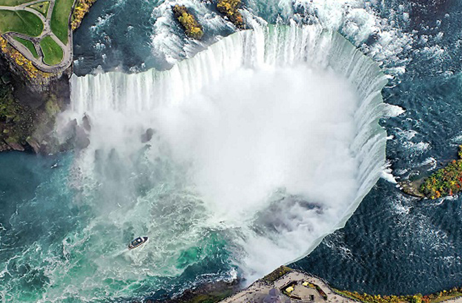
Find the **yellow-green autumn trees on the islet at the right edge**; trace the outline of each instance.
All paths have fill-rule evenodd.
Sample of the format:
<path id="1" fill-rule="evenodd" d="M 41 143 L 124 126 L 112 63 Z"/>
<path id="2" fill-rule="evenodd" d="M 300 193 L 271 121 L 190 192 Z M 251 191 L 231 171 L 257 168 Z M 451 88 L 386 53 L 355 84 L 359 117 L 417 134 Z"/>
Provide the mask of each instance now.
<path id="1" fill-rule="evenodd" d="M 430 199 L 459 193 L 462 187 L 462 145 L 459 146 L 459 160 L 453 160 L 446 167 L 438 169 L 423 181 L 420 191 Z"/>

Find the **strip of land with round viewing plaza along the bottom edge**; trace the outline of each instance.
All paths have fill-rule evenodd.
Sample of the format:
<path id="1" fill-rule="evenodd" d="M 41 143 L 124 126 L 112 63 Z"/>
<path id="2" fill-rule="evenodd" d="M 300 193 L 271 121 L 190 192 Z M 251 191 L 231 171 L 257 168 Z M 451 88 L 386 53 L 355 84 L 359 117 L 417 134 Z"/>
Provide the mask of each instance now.
<path id="1" fill-rule="evenodd" d="M 168 300 L 146 298 L 144 303 L 462 303 L 462 287 L 422 295 L 368 295 L 341 291 L 310 273 L 279 267 L 269 275 L 239 288 L 241 281 L 219 281 L 188 289 Z M 270 294 L 271 291 L 271 294 Z M 399 292 L 399 289 L 396 289 Z M 270 295 L 269 295 L 270 294 Z"/>

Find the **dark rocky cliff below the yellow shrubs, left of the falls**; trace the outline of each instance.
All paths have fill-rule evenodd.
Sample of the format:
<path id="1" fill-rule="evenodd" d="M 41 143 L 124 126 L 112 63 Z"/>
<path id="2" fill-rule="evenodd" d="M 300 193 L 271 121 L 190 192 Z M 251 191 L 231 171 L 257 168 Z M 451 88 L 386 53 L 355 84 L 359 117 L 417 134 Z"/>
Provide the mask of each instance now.
<path id="1" fill-rule="evenodd" d="M 30 81 L 6 54 L 0 54 L 0 151 L 54 152 L 54 119 L 68 103 L 68 76 Z"/>

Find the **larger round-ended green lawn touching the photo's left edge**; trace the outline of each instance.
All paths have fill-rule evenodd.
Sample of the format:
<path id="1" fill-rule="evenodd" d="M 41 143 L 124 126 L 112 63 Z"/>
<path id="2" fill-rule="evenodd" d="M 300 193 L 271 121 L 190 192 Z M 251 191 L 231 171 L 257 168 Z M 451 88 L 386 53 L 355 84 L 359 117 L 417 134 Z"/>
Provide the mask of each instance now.
<path id="1" fill-rule="evenodd" d="M 19 32 L 28 36 L 39 36 L 42 30 L 42 21 L 32 12 L 0 10 L 0 33 Z"/>

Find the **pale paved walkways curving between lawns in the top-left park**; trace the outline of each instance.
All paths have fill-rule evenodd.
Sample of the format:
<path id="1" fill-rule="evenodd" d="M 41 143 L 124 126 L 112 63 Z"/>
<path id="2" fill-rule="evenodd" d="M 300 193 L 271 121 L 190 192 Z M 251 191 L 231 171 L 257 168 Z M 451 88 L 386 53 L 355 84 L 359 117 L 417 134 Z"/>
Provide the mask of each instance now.
<path id="1" fill-rule="evenodd" d="M 74 6 L 75 6 L 76 1 L 77 0 L 74 0 Z M 11 45 L 13 45 L 14 48 L 16 48 L 19 52 L 21 52 L 23 56 L 25 56 L 28 60 L 32 61 L 32 64 L 35 67 L 37 67 L 39 70 L 43 72 L 50 72 L 50 73 L 63 72 L 63 70 L 66 70 L 72 64 L 72 59 L 74 56 L 73 49 L 72 49 L 72 29 L 70 28 L 70 18 L 72 17 L 73 8 L 71 10 L 71 13 L 69 16 L 69 22 L 68 22 L 68 43 L 65 45 L 52 32 L 51 26 L 50 26 L 50 20 L 52 17 L 55 0 L 49 0 L 50 6 L 48 7 L 48 12 L 47 12 L 46 17 L 44 17 L 43 14 L 41 14 L 37 10 L 34 10 L 33 8 L 28 7 L 32 4 L 39 3 L 39 2 L 43 2 L 43 0 L 34 0 L 28 3 L 19 4 L 18 6 L 0 6 L 0 10 L 25 10 L 26 12 L 31 12 L 32 14 L 36 15 L 37 17 L 40 18 L 40 20 L 43 23 L 43 31 L 41 32 L 40 36 L 31 37 L 25 34 L 20 34 L 18 32 L 7 32 L 3 34 L 2 36 L 6 40 L 8 40 L 8 42 Z M 39 54 L 39 58 L 35 58 L 30 52 L 30 50 L 26 48 L 26 46 L 24 46 L 22 43 L 14 39 L 14 36 L 18 36 L 19 38 L 23 38 L 23 39 L 29 40 L 32 43 L 34 43 L 35 50 L 37 51 L 37 54 Z M 45 36 L 50 36 L 54 40 L 54 42 L 56 42 L 63 50 L 63 59 L 57 65 L 48 65 L 43 62 L 43 52 L 41 51 L 39 43 L 41 39 L 43 39 Z"/>

